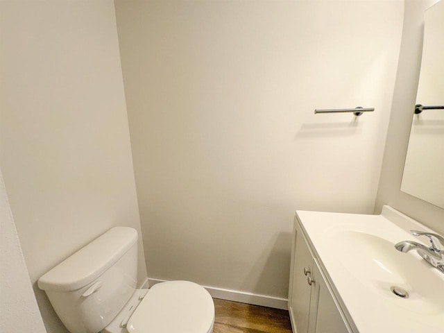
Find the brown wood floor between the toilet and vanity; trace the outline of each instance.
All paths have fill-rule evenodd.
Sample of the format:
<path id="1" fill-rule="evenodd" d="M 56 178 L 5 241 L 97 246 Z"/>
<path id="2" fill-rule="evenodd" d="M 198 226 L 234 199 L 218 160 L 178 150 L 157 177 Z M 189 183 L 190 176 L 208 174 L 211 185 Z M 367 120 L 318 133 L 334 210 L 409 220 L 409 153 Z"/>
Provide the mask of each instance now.
<path id="1" fill-rule="evenodd" d="M 292 333 L 289 311 L 214 298 L 213 333 Z"/>

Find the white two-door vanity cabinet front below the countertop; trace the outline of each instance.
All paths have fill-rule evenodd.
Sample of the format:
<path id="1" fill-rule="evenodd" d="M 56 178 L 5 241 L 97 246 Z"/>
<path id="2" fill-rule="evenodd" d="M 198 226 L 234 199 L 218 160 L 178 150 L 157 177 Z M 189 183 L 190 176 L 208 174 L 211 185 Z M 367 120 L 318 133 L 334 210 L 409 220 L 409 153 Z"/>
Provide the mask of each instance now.
<path id="1" fill-rule="evenodd" d="M 293 333 L 352 333 L 295 218 L 289 312 Z"/>

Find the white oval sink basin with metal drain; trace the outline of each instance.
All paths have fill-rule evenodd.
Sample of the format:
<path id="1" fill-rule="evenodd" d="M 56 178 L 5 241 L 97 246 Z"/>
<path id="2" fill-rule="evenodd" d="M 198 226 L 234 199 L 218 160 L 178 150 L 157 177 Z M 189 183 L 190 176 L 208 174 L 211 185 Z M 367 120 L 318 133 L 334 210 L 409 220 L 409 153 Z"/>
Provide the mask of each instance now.
<path id="1" fill-rule="evenodd" d="M 357 230 L 338 232 L 330 240 L 339 251 L 339 262 L 364 292 L 379 293 L 386 302 L 418 314 L 444 312 L 443 280 L 429 274 L 429 264 L 414 251 L 400 253 L 393 241 Z M 391 287 L 401 287 L 408 297 L 396 296 Z"/>

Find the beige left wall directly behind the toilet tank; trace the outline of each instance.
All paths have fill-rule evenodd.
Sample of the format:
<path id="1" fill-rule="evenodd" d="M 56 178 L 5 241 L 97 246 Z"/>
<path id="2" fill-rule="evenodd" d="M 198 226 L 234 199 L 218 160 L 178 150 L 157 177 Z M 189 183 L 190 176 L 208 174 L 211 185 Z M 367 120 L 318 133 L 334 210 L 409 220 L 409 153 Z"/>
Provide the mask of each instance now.
<path id="1" fill-rule="evenodd" d="M 140 228 L 114 3 L 1 1 L 0 22 L 1 171 L 35 285 L 112 226 Z"/>

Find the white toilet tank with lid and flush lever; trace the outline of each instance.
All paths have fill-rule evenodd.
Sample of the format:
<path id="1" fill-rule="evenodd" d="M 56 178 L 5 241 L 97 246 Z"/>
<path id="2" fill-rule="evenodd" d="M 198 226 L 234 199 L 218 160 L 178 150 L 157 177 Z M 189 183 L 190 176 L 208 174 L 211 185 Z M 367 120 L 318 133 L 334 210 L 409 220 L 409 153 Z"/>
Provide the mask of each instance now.
<path id="1" fill-rule="evenodd" d="M 38 280 L 71 333 L 97 333 L 126 305 L 137 284 L 137 231 L 115 227 Z"/>

